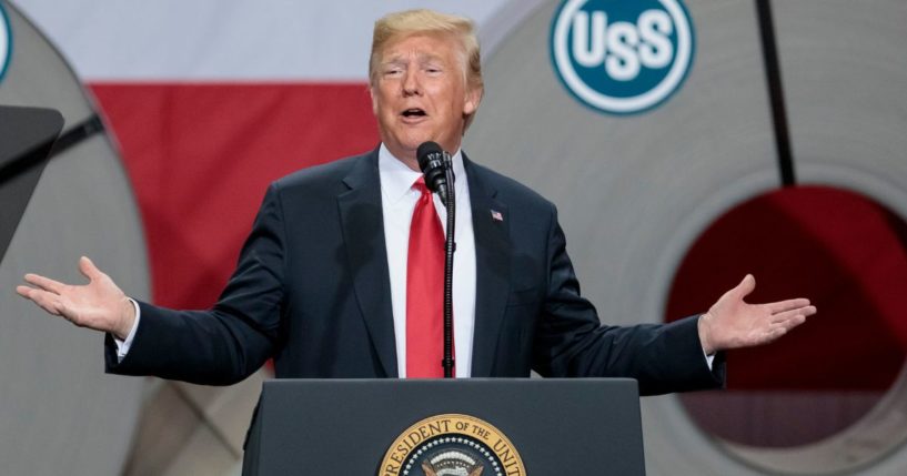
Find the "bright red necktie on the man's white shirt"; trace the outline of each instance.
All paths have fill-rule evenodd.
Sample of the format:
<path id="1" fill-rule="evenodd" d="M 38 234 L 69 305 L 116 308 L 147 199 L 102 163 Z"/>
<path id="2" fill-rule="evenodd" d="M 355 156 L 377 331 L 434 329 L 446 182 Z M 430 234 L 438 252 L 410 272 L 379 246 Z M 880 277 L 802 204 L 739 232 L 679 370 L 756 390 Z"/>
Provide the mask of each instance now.
<path id="1" fill-rule="evenodd" d="M 406 376 L 443 377 L 444 232 L 425 180 L 413 184 L 422 195 L 410 224 L 406 259 Z"/>

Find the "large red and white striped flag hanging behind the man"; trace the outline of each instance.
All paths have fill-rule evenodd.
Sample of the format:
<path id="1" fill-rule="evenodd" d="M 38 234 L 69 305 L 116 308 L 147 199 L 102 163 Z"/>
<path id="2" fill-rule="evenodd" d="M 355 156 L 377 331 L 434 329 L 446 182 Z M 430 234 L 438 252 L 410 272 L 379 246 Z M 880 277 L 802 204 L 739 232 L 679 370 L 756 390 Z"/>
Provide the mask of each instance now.
<path id="1" fill-rule="evenodd" d="M 17 2 L 94 94 L 138 196 L 154 302 L 206 307 L 264 190 L 374 148 L 372 24 L 453 8 L 481 26 L 504 2 Z"/>

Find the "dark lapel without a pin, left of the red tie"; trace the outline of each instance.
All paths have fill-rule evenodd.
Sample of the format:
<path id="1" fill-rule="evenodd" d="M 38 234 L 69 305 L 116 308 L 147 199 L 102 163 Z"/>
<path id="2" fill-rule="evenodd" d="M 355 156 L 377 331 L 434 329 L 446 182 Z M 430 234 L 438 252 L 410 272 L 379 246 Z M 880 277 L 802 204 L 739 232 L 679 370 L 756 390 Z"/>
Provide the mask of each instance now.
<path id="1" fill-rule="evenodd" d="M 385 375 L 397 376 L 394 318 L 384 242 L 377 150 L 356 162 L 337 195 L 343 243 L 365 326 Z"/>

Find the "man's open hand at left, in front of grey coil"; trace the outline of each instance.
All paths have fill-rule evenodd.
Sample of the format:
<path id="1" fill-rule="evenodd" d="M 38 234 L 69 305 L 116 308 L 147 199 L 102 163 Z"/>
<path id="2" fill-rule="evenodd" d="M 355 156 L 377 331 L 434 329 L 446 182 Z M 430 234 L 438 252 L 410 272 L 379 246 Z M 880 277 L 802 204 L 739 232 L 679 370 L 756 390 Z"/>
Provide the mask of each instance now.
<path id="1" fill-rule="evenodd" d="M 135 322 L 132 303 L 88 257 L 79 260 L 79 271 L 89 278 L 88 284 L 75 286 L 29 273 L 26 282 L 31 286 L 17 286 L 16 292 L 80 327 L 109 332 L 125 341 Z"/>

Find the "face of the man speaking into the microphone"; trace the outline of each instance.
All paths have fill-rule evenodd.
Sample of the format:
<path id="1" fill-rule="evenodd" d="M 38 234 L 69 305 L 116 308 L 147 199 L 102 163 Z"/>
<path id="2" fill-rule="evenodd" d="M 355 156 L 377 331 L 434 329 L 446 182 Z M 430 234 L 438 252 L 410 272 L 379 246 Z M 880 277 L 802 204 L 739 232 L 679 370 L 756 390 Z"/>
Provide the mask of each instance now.
<path id="1" fill-rule="evenodd" d="M 478 92 L 467 91 L 464 53 L 450 34 L 392 39 L 381 52 L 372 84 L 372 109 L 381 140 L 411 168 L 425 141 L 460 149 L 464 114 L 475 112 Z"/>

